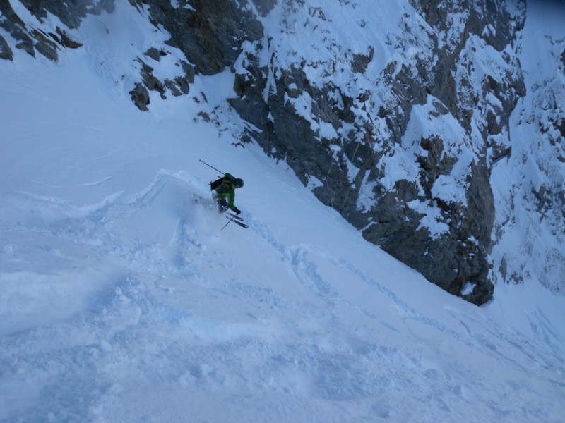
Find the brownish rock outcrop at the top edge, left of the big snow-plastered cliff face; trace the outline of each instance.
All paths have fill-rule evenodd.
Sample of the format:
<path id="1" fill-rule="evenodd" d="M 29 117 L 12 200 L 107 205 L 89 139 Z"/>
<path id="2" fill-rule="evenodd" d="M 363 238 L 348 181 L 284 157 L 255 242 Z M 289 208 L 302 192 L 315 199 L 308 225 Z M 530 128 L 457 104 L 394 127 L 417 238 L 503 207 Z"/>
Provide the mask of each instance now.
<path id="1" fill-rule="evenodd" d="M 165 80 L 155 77 L 145 58 L 138 58 L 141 81 L 129 94 L 133 104 L 143 111 L 149 110 L 150 92 L 162 99 L 167 98 L 167 93 L 188 94 L 194 75 L 214 75 L 231 67 L 241 54 L 243 42 L 263 37 L 261 24 L 251 11 L 242 8 L 246 1 L 129 0 L 129 3 L 139 11 L 146 8 L 151 23 L 170 35 L 166 46 L 180 49 L 186 58 L 178 63 L 184 76 Z M 272 6 L 270 0 L 261 2 L 265 13 Z M 147 58 L 157 62 L 167 54 L 166 49 L 155 47 L 144 52 Z"/>

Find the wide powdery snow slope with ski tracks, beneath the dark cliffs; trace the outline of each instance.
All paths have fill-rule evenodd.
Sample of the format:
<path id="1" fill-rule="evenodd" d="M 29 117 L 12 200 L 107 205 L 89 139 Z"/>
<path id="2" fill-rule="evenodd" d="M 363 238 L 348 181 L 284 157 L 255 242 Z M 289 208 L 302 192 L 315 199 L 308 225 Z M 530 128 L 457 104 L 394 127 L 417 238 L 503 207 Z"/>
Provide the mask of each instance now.
<path id="1" fill-rule="evenodd" d="M 116 13 L 59 64 L 0 62 L 1 422 L 563 419 L 563 298 L 475 307 L 366 243 L 234 145 L 230 73 L 138 111 L 118 70 L 151 40 L 107 44 L 142 25 Z M 244 178 L 249 229 L 194 202 L 199 159 Z"/>

